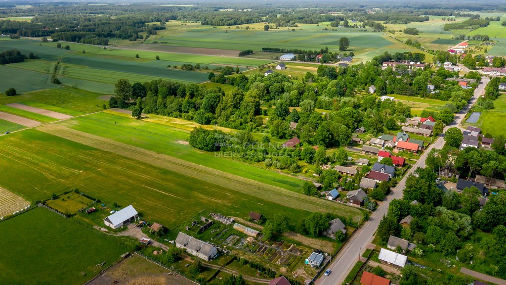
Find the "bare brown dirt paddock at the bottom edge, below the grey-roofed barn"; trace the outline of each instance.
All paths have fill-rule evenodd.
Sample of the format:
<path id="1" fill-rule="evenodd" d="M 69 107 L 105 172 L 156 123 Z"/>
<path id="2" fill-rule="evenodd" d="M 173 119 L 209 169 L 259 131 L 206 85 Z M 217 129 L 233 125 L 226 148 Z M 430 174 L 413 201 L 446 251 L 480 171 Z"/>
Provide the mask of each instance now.
<path id="1" fill-rule="evenodd" d="M 169 273 L 169 274 L 167 274 Z M 90 285 L 195 285 L 192 281 L 173 274 L 171 271 L 138 255 L 128 257 L 109 268 Z"/>

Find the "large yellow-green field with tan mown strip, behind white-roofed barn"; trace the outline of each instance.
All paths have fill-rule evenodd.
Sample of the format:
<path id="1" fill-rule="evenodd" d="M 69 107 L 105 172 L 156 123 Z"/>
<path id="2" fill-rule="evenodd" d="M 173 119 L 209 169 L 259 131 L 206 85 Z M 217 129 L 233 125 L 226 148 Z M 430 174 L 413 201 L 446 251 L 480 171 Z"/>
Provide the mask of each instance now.
<path id="1" fill-rule="evenodd" d="M 315 210 L 356 221 L 361 217 L 353 207 L 61 125 L 14 133 L 0 141 L 0 171 L 7 173 L 1 186 L 30 200 L 77 188 L 105 203 L 133 204 L 146 219 L 169 228 L 202 210 L 235 217 L 246 217 L 249 211 L 272 217 L 284 211 L 293 221 Z"/>

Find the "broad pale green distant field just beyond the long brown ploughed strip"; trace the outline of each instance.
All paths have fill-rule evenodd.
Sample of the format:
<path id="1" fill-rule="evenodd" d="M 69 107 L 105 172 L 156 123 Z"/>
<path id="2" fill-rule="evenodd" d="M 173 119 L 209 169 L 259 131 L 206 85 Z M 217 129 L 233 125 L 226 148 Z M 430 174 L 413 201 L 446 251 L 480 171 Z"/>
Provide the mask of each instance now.
<path id="1" fill-rule="evenodd" d="M 248 24 L 236 29 L 197 24 L 181 25 L 179 21 L 167 24 L 166 30 L 160 30 L 152 35 L 147 43 L 163 43 L 167 46 L 197 47 L 212 49 L 230 49 L 261 51 L 264 47 L 292 48 L 303 50 L 319 50 L 328 47 L 331 51 L 339 50 L 339 39 L 347 37 L 351 45 L 348 51 L 353 51 L 358 58 L 369 60 L 385 51 L 402 49 L 415 51 L 414 48 L 404 44 L 397 45 L 381 32 L 359 31 L 359 28 L 336 28 L 337 30 L 323 30 L 331 28 L 328 23 L 319 26 L 302 24 L 300 27 L 279 28 L 264 31 L 262 24 Z"/>

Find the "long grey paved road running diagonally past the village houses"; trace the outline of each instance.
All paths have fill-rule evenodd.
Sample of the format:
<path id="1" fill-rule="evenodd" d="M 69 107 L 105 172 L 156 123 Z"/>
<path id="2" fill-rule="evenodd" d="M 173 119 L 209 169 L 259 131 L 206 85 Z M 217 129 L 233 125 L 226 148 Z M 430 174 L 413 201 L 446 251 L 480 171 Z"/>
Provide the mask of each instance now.
<path id="1" fill-rule="evenodd" d="M 452 124 L 445 127 L 445 131 L 448 128 L 459 126 L 458 124 L 463 120 L 466 116 L 467 111 L 471 108 L 471 106 L 476 102 L 479 96 L 483 94 L 483 90 L 485 85 L 489 82 L 488 78 L 484 78 L 482 83 L 476 88 L 475 94 L 472 99 L 469 101 L 469 104 L 466 111 L 461 111 L 458 114 L 455 114 L 455 120 Z M 427 155 L 431 151 L 431 149 L 441 149 L 444 145 L 443 136 L 440 135 L 436 141 L 427 148 L 427 150 L 421 155 L 420 159 L 411 167 L 403 179 L 397 184 L 395 188 L 392 189 L 390 195 L 379 204 L 378 209 L 372 214 L 371 218 L 365 225 L 360 228 L 350 240 L 343 246 L 339 255 L 336 257 L 334 262 L 329 266 L 332 273 L 329 276 L 323 276 L 322 278 L 316 281 L 319 285 L 341 285 L 348 275 L 348 272 L 358 261 L 360 256 L 359 251 L 363 252 L 364 248 L 366 248 L 367 244 L 371 242 L 372 235 L 376 231 L 379 221 L 383 218 L 384 215 L 387 214 L 388 205 L 390 201 L 393 199 L 402 198 L 402 190 L 404 190 L 406 185 L 407 176 L 413 172 L 418 167 L 425 167 L 425 160 L 427 159 Z"/>

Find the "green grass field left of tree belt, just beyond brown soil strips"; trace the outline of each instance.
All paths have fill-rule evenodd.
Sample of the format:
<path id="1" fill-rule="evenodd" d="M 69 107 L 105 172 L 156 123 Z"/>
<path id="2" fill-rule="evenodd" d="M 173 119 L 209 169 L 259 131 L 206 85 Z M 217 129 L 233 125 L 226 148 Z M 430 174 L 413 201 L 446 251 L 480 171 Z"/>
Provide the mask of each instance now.
<path id="1" fill-rule="evenodd" d="M 78 115 L 77 112 L 92 113 L 103 110 L 102 105 L 107 101 L 99 99 L 99 96 L 99 94 L 79 89 L 57 88 L 23 93 L 17 96 L 0 95 L 0 104 L 37 102 L 63 108 L 60 111 L 65 112 L 61 113 L 75 116 Z M 56 109 L 48 110 L 56 111 Z"/>

